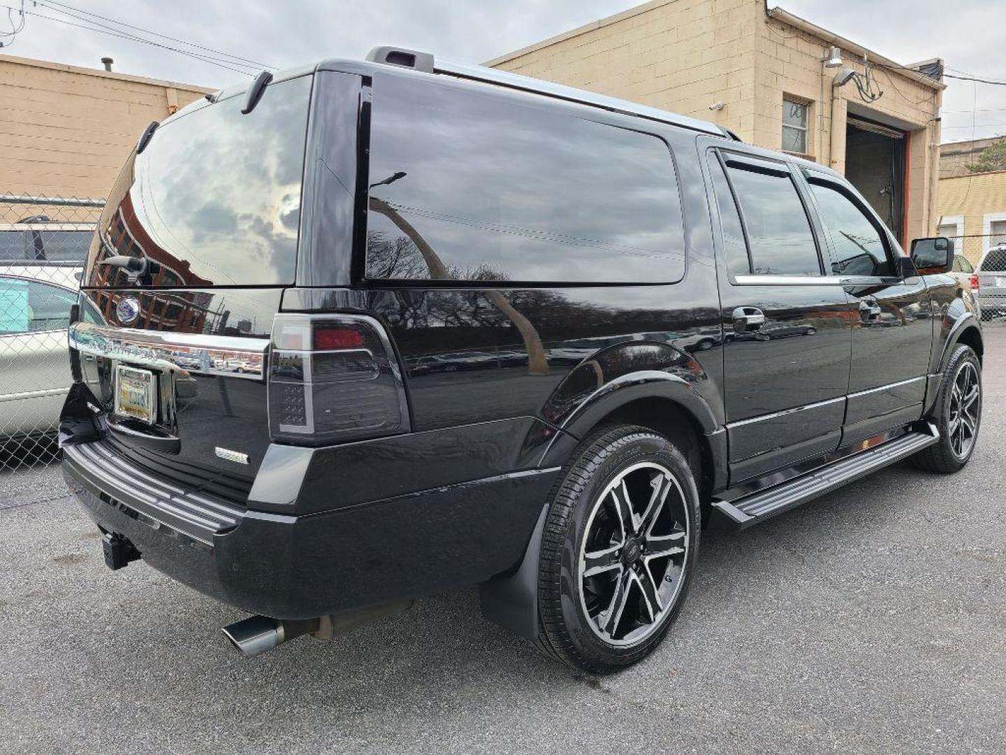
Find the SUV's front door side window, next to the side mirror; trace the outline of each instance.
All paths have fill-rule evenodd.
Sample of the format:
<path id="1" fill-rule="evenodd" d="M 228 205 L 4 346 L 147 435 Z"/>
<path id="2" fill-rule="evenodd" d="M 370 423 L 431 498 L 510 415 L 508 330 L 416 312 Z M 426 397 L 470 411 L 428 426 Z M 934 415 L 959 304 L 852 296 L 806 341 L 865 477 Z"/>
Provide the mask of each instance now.
<path id="1" fill-rule="evenodd" d="M 883 237 L 853 201 L 831 186 L 811 184 L 821 222 L 831 239 L 836 275 L 892 275 Z"/>

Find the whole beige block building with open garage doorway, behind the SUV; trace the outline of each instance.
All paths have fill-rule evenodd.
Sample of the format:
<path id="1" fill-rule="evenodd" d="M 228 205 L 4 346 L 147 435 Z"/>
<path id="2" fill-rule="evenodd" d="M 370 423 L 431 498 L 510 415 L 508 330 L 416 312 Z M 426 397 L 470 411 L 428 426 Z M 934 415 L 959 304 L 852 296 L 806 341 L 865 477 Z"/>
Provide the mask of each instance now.
<path id="1" fill-rule="evenodd" d="M 842 62 L 826 66 L 831 47 Z M 870 79 L 864 73 L 864 55 Z M 936 230 L 943 84 L 764 0 L 653 0 L 488 61 L 714 121 L 845 173 L 904 243 Z M 865 102 L 855 71 L 882 95 Z M 867 92 L 867 94 L 869 94 Z"/>

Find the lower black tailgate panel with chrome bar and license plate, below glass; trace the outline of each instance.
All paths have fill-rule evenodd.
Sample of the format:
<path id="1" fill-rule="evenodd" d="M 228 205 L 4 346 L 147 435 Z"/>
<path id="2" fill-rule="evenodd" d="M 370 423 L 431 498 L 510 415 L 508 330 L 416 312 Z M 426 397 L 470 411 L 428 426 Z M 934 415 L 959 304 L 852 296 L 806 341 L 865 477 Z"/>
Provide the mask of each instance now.
<path id="1" fill-rule="evenodd" d="M 269 327 L 280 295 L 278 289 L 85 292 L 93 305 L 86 312 L 115 312 L 125 299 L 144 311 L 179 310 L 174 326 L 164 329 L 117 326 L 93 314 L 70 327 L 70 345 L 101 410 L 106 442 L 157 476 L 243 501 L 270 443 L 269 333 L 248 325 Z M 189 302 L 188 308 L 181 302 Z M 226 325 L 225 317 L 235 317 L 237 325 Z M 148 418 L 127 412 L 122 397 L 117 406 L 117 376 L 128 393 L 124 367 L 129 375 L 150 374 Z"/>

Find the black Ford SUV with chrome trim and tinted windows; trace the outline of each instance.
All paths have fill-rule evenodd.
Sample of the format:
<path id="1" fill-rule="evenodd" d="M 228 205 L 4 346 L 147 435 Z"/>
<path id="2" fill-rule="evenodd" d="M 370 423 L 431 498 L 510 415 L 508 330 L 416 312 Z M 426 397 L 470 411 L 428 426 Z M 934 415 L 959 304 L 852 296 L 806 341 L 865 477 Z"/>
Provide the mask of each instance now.
<path id="1" fill-rule="evenodd" d="M 378 48 L 152 124 L 112 190 L 60 439 L 113 568 L 246 654 L 478 584 L 593 671 L 700 528 L 953 472 L 982 334 L 951 245 L 718 126 Z"/>

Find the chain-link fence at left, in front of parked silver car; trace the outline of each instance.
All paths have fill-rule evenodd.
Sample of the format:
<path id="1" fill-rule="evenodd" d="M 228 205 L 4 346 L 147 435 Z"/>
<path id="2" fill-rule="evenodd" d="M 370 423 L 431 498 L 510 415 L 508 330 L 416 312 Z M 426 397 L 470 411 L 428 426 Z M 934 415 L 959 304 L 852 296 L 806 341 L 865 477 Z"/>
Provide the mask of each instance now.
<path id="1" fill-rule="evenodd" d="M 103 199 L 0 194 L 0 471 L 58 457 L 69 308 Z"/>

